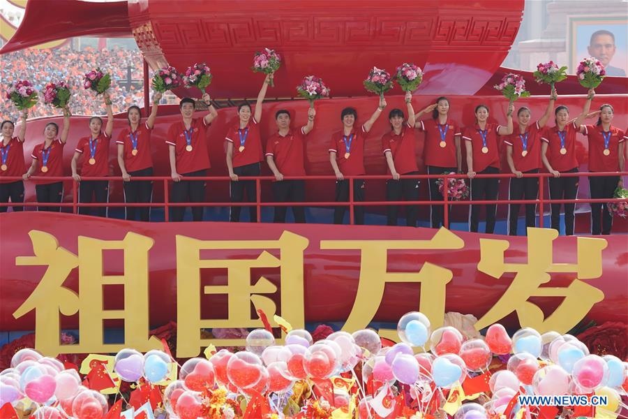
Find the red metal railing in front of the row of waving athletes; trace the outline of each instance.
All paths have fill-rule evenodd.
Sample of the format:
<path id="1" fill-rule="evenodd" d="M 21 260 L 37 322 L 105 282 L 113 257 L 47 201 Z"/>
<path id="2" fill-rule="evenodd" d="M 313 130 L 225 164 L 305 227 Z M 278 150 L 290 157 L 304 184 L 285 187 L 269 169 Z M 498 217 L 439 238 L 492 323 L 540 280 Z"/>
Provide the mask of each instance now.
<path id="1" fill-rule="evenodd" d="M 561 177 L 598 177 L 598 176 L 625 176 L 628 175 L 628 172 L 575 172 L 575 173 L 561 173 Z M 495 173 L 491 175 L 477 175 L 476 178 L 512 178 L 516 177 L 513 174 L 509 173 Z M 553 177 L 551 173 L 529 173 L 524 174 L 523 177 L 538 177 L 539 181 L 542 179 Z M 3 177 L 4 180 L 22 180 L 22 177 Z M 83 180 L 109 180 L 109 181 L 117 181 L 123 182 L 121 177 L 83 177 Z M 182 179 L 186 179 L 182 177 Z M 330 175 L 317 175 L 317 176 L 302 176 L 302 177 L 284 177 L 285 180 L 290 179 L 303 179 L 303 180 L 329 180 L 335 181 L 335 176 Z M 22 207 L 22 206 L 38 206 L 38 207 L 71 207 L 72 212 L 74 214 L 77 213 L 79 207 L 163 207 L 164 209 L 164 217 L 165 221 L 169 221 L 168 209 L 170 207 L 251 207 L 255 205 L 257 210 L 257 222 L 261 222 L 261 212 L 262 207 L 339 207 L 339 206 L 348 206 L 349 207 L 349 220 L 350 223 L 354 223 L 354 208 L 356 206 L 362 207 L 374 207 L 374 206 L 386 206 L 386 205 L 443 205 L 443 224 L 444 226 L 449 225 L 449 205 L 486 205 L 486 204 L 537 204 L 539 206 L 539 227 L 543 227 L 543 216 L 545 205 L 552 203 L 612 203 L 612 202 L 627 202 L 626 198 L 599 198 L 599 199 L 546 199 L 544 198 L 544 189 L 545 183 L 539 182 L 539 194 L 537 199 L 535 200 L 449 200 L 448 196 L 445 195 L 443 200 L 441 201 L 432 201 L 432 200 L 416 200 L 416 201 L 362 201 L 356 202 L 353 198 L 353 182 L 356 179 L 365 179 L 365 180 L 387 180 L 391 179 L 389 175 L 365 175 L 365 176 L 347 176 L 345 177 L 349 181 L 349 200 L 345 202 L 335 202 L 335 201 L 304 201 L 304 202 L 287 202 L 287 203 L 274 203 L 274 202 L 262 202 L 262 182 L 272 182 L 275 180 L 274 176 L 258 176 L 258 177 L 239 177 L 239 180 L 255 180 L 255 202 L 243 202 L 243 203 L 232 203 L 232 202 L 223 202 L 223 203 L 171 203 L 170 195 L 169 195 L 169 184 L 172 182 L 171 177 L 164 176 L 151 176 L 151 177 L 141 177 L 136 180 L 142 181 L 154 181 L 154 182 L 163 182 L 163 203 L 79 203 L 78 202 L 78 188 L 76 182 L 72 177 L 30 177 L 28 181 L 36 181 L 36 180 L 47 180 L 47 181 L 72 181 L 72 202 L 71 203 L 37 203 L 37 202 L 29 202 L 29 203 L 0 203 L 0 207 Z M 443 179 L 445 184 L 449 184 L 449 179 L 468 179 L 467 175 L 412 175 L 412 176 L 403 176 L 403 179 Z M 206 176 L 206 177 L 191 177 L 186 180 L 195 180 L 195 181 L 223 181 L 230 182 L 230 177 L 228 176 Z M 27 182 L 28 182 L 27 181 Z"/>

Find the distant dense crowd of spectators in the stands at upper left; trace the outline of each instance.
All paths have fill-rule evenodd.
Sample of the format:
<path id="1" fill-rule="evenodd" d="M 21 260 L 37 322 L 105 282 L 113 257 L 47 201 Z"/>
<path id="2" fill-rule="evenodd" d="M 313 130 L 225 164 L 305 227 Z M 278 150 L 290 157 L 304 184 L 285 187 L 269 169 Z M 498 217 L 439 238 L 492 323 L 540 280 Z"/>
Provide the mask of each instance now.
<path id="1" fill-rule="evenodd" d="M 130 66 L 131 79 L 135 81 L 129 89 L 126 88 Z M 0 67 L 2 83 L 2 97 L 0 99 L 3 119 L 17 119 L 18 111 L 6 99 L 6 85 L 14 80 L 29 80 L 35 84 L 38 91 L 42 91 L 47 82 L 65 81 L 72 89 L 70 111 L 73 115 L 98 115 L 104 112 L 102 101 L 95 100 L 95 93 L 82 86 L 85 73 L 100 67 L 110 73 L 112 87 L 110 94 L 113 101 L 113 111 L 124 112 L 129 105 L 144 104 L 142 87 L 143 68 L 142 54 L 139 50 L 126 50 L 114 47 L 111 50 L 96 50 L 86 47 L 75 51 L 70 47 L 60 47 L 53 50 L 27 49 L 10 52 L 3 55 Z M 164 100 L 167 102 L 167 100 Z M 40 102 L 29 112 L 29 117 L 43 117 L 60 114 L 60 110 Z"/>

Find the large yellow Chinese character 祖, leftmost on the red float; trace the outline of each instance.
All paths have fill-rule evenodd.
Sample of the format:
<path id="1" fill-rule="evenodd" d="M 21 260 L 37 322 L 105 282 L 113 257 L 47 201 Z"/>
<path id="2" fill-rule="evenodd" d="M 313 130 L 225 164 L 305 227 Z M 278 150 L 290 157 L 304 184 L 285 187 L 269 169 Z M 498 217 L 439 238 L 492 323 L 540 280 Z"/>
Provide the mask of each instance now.
<path id="1" fill-rule="evenodd" d="M 18 256 L 20 266 L 47 265 L 46 272 L 33 293 L 15 310 L 19 318 L 35 310 L 35 347 L 48 356 L 59 353 L 117 352 L 128 346 L 138 351 L 161 348 L 149 332 L 148 251 L 154 241 L 135 233 L 124 240 L 97 240 L 78 237 L 77 255 L 59 247 L 57 238 L 43 231 L 29 232 L 35 256 Z M 124 272 L 103 275 L 103 251 L 124 251 Z M 63 286 L 70 271 L 78 267 L 80 296 Z M 103 309 L 103 286 L 124 286 L 124 309 Z M 79 314 L 79 343 L 59 343 L 61 314 Z M 105 319 L 124 320 L 124 343 L 104 344 Z"/>

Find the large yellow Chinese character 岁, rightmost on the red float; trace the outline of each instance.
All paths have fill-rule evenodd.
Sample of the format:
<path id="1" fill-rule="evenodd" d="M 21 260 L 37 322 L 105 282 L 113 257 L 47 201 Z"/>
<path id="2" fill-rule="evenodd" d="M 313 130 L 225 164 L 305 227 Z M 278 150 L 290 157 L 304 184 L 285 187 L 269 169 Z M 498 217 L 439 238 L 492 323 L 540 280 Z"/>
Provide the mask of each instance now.
<path id="1" fill-rule="evenodd" d="M 521 327 L 539 333 L 555 330 L 563 333 L 581 321 L 593 305 L 604 300 L 604 293 L 581 279 L 600 277 L 601 251 L 606 240 L 578 237 L 576 263 L 553 263 L 552 242 L 558 231 L 548 228 L 528 228 L 528 263 L 504 263 L 507 240 L 480 239 L 481 257 L 478 270 L 494 278 L 504 272 L 516 272 L 512 284 L 500 300 L 479 321 L 480 330 L 516 311 Z M 549 272 L 574 272 L 576 278 L 567 287 L 541 287 L 550 280 Z M 545 318 L 529 297 L 565 297 L 557 309 Z"/>

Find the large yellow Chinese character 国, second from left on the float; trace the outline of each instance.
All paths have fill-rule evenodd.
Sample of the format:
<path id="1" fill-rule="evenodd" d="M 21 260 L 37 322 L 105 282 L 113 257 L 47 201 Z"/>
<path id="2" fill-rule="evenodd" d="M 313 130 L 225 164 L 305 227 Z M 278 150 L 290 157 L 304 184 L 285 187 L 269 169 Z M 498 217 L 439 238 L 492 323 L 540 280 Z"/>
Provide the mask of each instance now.
<path id="1" fill-rule="evenodd" d="M 251 318 L 251 302 L 269 318 L 276 314 L 276 304 L 264 294 L 277 287 L 261 277 L 251 285 L 251 269 L 279 267 L 281 274 L 281 316 L 295 328 L 305 325 L 303 251 L 309 241 L 288 231 L 279 240 L 197 240 L 177 235 L 177 357 L 198 355 L 202 346 L 243 346 L 244 339 L 201 339 L 203 328 L 260 328 L 260 319 Z M 202 250 L 280 249 L 281 258 L 266 250 L 257 258 L 201 258 Z M 227 268 L 227 285 L 204 286 L 202 294 L 226 294 L 226 319 L 201 318 L 200 270 Z"/>

